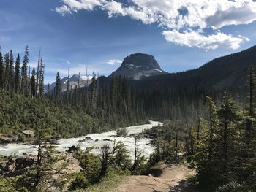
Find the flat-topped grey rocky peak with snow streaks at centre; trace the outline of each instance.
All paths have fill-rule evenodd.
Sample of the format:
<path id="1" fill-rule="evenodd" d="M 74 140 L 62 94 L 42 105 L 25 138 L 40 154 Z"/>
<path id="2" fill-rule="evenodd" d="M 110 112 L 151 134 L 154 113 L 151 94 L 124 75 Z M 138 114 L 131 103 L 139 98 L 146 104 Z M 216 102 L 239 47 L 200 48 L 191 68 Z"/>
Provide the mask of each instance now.
<path id="1" fill-rule="evenodd" d="M 124 58 L 121 66 L 110 77 L 121 75 L 132 80 L 140 80 L 159 74 L 167 74 L 167 72 L 161 69 L 154 56 L 135 53 Z"/>

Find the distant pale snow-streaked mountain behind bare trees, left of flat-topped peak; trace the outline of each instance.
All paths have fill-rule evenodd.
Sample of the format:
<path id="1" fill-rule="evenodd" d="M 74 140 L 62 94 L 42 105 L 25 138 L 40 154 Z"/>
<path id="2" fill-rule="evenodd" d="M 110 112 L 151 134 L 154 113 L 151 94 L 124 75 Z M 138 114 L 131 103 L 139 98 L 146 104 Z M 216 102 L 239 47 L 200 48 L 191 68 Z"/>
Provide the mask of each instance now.
<path id="1" fill-rule="evenodd" d="M 80 87 L 84 87 L 86 85 L 86 77 L 79 77 L 78 74 L 74 74 L 72 77 L 69 78 L 69 85 L 70 88 L 75 88 L 76 85 L 78 85 L 78 80 L 80 83 Z M 88 85 L 91 83 L 91 80 L 88 80 Z M 53 82 L 50 84 L 50 89 L 48 88 L 48 85 L 45 85 L 45 93 L 48 91 L 52 91 L 56 86 L 56 82 Z M 64 77 L 61 79 L 61 91 L 67 90 L 67 77 Z"/>

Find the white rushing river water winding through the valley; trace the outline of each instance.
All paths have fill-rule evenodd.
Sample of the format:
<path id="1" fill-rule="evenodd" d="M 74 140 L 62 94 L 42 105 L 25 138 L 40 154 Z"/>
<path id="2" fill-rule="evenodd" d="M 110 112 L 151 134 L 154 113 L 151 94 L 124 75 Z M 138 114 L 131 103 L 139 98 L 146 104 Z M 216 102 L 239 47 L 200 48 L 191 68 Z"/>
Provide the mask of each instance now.
<path id="1" fill-rule="evenodd" d="M 150 124 L 126 127 L 128 132 L 127 137 L 116 137 L 116 131 L 108 131 L 101 134 L 88 134 L 82 137 L 60 139 L 58 141 L 59 145 L 56 145 L 56 150 L 65 151 L 68 149 L 68 147 L 72 145 L 75 145 L 75 146 L 80 145 L 81 149 L 86 149 L 86 147 L 94 147 L 94 150 L 92 150 L 92 153 L 98 154 L 100 151 L 100 148 L 103 145 L 110 145 L 111 147 L 113 146 L 114 140 L 116 140 L 116 142 L 121 141 L 124 143 L 124 145 L 127 147 L 132 157 L 135 150 L 134 149 L 135 138 L 129 135 L 140 134 L 141 132 L 143 132 L 143 130 L 150 129 L 158 125 L 162 126 L 162 123 L 157 121 L 150 121 Z M 86 137 L 91 139 L 85 139 Z M 154 150 L 154 147 L 149 145 L 150 142 L 151 142 L 151 139 L 146 139 L 146 138 L 138 139 L 138 142 L 137 142 L 138 150 L 140 150 L 142 155 L 145 155 L 145 157 L 148 157 Z M 27 145 L 24 143 L 0 145 L 1 155 L 23 155 L 23 153 L 26 153 L 28 155 L 36 155 L 37 145 Z"/>

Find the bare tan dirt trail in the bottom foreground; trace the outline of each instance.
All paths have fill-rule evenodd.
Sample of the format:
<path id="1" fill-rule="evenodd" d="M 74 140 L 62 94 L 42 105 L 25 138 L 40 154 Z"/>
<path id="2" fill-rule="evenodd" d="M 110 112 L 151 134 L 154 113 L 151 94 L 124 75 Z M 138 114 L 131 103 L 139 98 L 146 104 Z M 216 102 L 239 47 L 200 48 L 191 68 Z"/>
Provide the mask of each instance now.
<path id="1" fill-rule="evenodd" d="M 159 171 L 153 175 L 127 176 L 121 185 L 111 192 L 184 191 L 183 187 L 186 185 L 187 177 L 195 175 L 195 170 L 179 164 L 162 164 Z"/>

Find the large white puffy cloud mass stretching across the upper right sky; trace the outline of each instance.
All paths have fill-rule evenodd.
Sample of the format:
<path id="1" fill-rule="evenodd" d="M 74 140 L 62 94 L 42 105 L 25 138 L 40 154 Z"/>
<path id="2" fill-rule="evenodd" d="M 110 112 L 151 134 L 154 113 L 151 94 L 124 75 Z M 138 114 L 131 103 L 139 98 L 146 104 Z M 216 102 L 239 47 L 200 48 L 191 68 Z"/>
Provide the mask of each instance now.
<path id="1" fill-rule="evenodd" d="M 159 27 L 165 28 L 163 34 L 167 41 L 202 49 L 237 49 L 248 39 L 233 37 L 217 30 L 256 20 L 256 3 L 252 0 L 130 0 L 129 4 L 116 0 L 61 1 L 63 5 L 56 7 L 56 12 L 61 15 L 72 14 L 81 9 L 91 11 L 98 7 L 107 12 L 110 18 L 129 16 L 144 24 L 157 23 Z M 214 33 L 203 35 L 206 28 L 212 28 Z M 176 39 L 178 37 L 183 39 Z"/>

